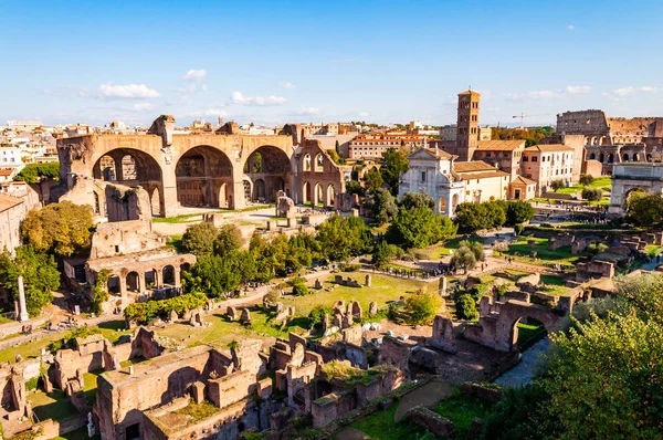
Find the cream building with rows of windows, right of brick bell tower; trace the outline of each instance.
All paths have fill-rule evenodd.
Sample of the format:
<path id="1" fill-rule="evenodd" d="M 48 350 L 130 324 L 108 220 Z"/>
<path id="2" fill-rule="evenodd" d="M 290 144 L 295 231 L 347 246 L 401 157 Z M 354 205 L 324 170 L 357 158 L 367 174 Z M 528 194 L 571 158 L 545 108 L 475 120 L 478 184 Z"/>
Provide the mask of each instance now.
<path id="1" fill-rule="evenodd" d="M 538 182 L 539 195 L 550 190 L 550 184 L 573 181 L 573 148 L 561 144 L 535 145 L 525 148 L 520 174 Z"/>

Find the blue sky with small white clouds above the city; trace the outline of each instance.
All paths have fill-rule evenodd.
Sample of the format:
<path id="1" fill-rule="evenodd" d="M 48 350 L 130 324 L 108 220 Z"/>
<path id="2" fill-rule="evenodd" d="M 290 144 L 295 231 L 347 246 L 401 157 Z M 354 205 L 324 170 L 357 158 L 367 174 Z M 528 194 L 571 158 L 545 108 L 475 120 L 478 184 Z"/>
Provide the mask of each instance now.
<path id="1" fill-rule="evenodd" d="M 663 116 L 663 1 L 0 0 L 0 122 Z"/>

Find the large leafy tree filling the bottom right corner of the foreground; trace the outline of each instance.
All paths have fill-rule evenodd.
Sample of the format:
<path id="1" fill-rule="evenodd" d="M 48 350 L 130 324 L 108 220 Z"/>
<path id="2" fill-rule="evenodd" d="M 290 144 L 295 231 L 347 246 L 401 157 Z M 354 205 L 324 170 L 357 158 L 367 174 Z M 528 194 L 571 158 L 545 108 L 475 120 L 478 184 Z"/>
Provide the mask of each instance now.
<path id="1" fill-rule="evenodd" d="M 546 409 L 568 439 L 663 437 L 663 326 L 635 314 L 550 335 Z"/>

